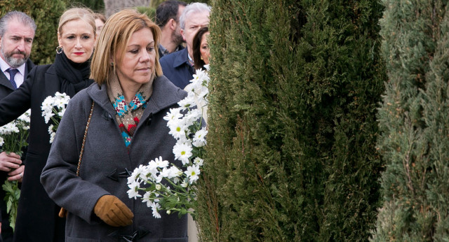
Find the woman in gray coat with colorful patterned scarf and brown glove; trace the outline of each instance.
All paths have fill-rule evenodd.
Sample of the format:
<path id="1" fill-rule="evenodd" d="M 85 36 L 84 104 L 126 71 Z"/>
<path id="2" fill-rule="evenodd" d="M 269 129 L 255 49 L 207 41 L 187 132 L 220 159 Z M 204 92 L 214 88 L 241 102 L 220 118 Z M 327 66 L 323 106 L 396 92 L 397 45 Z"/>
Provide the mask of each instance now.
<path id="1" fill-rule="evenodd" d="M 154 218 L 126 193 L 130 172 L 154 157 L 182 166 L 174 161 L 175 139 L 163 116 L 187 93 L 162 75 L 159 34 L 135 10 L 109 17 L 91 64 L 97 85 L 67 106 L 41 175 L 49 197 L 68 211 L 66 241 L 187 241 L 186 216 Z"/>

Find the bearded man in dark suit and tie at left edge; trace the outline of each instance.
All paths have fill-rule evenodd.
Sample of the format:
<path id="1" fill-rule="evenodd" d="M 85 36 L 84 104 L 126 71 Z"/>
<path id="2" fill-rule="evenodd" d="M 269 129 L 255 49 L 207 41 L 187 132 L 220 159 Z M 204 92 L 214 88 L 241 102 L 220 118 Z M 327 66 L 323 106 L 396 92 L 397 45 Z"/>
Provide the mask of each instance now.
<path id="1" fill-rule="evenodd" d="M 0 99 L 17 89 L 24 81 L 34 64 L 29 60 L 36 24 L 25 13 L 12 11 L 0 19 Z M 0 153 L 0 183 L 9 180 L 22 180 L 25 165 L 19 155 Z M 6 213 L 5 192 L 0 188 L 1 237 L 12 241 L 13 229 L 9 226 Z"/>

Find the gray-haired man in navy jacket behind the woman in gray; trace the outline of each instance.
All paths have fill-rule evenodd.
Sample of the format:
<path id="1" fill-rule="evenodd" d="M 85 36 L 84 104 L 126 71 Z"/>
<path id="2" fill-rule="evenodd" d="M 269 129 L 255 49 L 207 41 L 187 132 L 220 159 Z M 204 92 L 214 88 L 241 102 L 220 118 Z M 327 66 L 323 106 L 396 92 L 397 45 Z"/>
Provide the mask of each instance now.
<path id="1" fill-rule="evenodd" d="M 201 27 L 209 24 L 210 6 L 206 3 L 190 3 L 182 12 L 180 27 L 182 38 L 187 43 L 187 48 L 161 58 L 163 75 L 181 89 L 189 84 L 194 74 L 193 63 L 193 39 Z"/>

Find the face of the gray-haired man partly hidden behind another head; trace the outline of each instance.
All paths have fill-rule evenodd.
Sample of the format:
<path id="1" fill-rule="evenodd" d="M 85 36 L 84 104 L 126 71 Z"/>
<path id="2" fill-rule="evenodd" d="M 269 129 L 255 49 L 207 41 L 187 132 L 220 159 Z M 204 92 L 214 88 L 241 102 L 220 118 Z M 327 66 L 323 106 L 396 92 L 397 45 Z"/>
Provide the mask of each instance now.
<path id="1" fill-rule="evenodd" d="M 192 46 L 194 41 L 194 36 L 196 32 L 201 29 L 201 27 L 206 27 L 209 24 L 209 12 L 205 11 L 202 13 L 192 13 L 186 17 L 185 29 L 181 29 L 182 37 L 187 43 L 187 50 L 189 51 L 190 57 L 192 57 Z"/>

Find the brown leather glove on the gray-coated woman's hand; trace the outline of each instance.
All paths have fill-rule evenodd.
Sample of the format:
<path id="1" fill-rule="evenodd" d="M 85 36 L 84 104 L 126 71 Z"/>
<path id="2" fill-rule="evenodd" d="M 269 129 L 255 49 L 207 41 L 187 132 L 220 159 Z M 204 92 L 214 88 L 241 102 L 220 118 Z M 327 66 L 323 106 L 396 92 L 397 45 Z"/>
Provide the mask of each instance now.
<path id="1" fill-rule="evenodd" d="M 98 218 L 101 218 L 105 223 L 114 227 L 126 226 L 133 223 L 133 212 L 118 197 L 112 195 L 100 197 L 93 208 L 93 212 Z"/>

